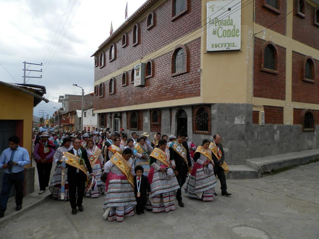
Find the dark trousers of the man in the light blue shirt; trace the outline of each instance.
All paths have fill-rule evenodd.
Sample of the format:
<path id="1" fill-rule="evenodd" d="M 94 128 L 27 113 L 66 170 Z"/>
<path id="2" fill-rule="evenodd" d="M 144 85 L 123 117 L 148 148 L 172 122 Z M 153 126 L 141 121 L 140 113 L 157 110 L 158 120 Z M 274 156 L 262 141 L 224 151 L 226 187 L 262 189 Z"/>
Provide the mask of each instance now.
<path id="1" fill-rule="evenodd" d="M 12 185 L 16 188 L 16 204 L 22 204 L 23 199 L 23 171 L 18 173 L 4 173 L 2 179 L 2 191 L 0 194 L 0 211 L 4 212 L 7 209 L 7 203 Z"/>

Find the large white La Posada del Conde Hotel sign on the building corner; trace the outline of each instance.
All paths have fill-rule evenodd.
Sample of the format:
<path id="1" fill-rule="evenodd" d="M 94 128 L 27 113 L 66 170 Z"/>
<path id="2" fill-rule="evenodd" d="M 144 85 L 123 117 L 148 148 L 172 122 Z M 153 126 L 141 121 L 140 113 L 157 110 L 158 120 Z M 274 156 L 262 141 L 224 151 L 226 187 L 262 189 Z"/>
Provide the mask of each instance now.
<path id="1" fill-rule="evenodd" d="M 241 0 L 207 2 L 207 51 L 241 48 Z"/>

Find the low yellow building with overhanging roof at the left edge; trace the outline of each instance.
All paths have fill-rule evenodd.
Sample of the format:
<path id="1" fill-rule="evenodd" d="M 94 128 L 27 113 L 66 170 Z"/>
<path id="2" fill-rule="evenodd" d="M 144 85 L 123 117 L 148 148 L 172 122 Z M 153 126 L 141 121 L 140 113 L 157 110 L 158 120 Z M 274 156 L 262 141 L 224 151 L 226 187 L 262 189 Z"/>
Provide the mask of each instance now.
<path id="1" fill-rule="evenodd" d="M 31 163 L 25 166 L 25 194 L 34 191 L 34 167 L 32 166 L 33 107 L 42 100 L 46 103 L 49 102 L 48 99 L 42 97 L 45 93 L 44 86 L 0 81 L 0 154 L 5 148 L 9 147 L 8 139 L 12 135 L 17 135 L 20 139 L 19 145 L 28 150 Z M 0 169 L 0 187 L 3 173 L 4 170 Z"/>

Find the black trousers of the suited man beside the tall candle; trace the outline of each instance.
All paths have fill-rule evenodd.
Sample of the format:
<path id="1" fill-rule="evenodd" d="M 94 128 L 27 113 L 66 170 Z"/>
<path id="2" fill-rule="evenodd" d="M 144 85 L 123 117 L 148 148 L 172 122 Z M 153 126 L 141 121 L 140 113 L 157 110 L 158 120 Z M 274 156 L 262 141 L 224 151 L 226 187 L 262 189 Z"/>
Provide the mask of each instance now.
<path id="1" fill-rule="evenodd" d="M 69 178 L 68 175 L 68 183 L 69 183 L 69 196 L 70 196 L 70 204 L 72 209 L 77 208 L 77 206 L 81 205 L 83 202 L 83 196 L 85 191 L 85 177 L 81 177 L 81 173 L 76 173 L 75 178 Z M 78 189 L 78 200 L 76 200 L 76 192 Z"/>

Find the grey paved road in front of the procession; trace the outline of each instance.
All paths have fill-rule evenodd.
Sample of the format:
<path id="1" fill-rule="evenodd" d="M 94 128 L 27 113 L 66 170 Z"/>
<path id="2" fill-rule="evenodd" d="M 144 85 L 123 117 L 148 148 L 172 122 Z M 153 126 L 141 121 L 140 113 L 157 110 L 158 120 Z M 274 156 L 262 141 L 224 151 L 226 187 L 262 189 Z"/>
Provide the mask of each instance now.
<path id="1" fill-rule="evenodd" d="M 84 199 L 84 212 L 49 200 L 0 228 L 0 238 L 319 238 L 319 162 L 259 179 L 228 180 L 230 197 L 145 212 L 123 222 L 103 219 L 103 197 Z M 175 201 L 177 203 L 177 201 Z"/>

